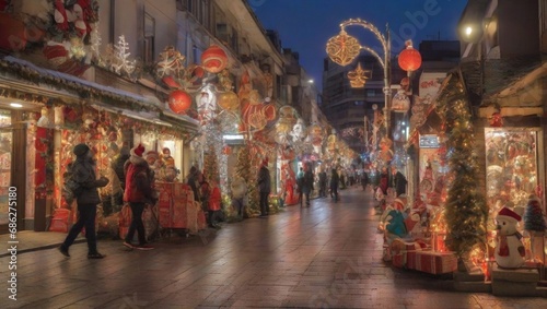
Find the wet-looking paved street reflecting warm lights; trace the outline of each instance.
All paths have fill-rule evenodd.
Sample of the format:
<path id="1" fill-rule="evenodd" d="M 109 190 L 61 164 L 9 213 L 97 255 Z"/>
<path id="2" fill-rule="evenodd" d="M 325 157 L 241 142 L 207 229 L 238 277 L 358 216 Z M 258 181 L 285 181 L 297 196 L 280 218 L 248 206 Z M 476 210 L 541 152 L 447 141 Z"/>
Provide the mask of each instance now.
<path id="1" fill-rule="evenodd" d="M 267 218 L 173 235 L 152 251 L 100 240 L 107 257 L 70 259 L 44 248 L 16 257 L 16 300 L 8 298 L 10 257 L 0 258 L 0 308 L 547 308 L 546 298 L 453 292 L 451 278 L 382 262 L 371 197 L 316 199 Z"/>

